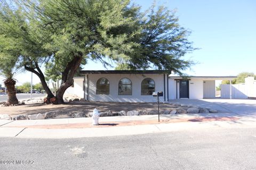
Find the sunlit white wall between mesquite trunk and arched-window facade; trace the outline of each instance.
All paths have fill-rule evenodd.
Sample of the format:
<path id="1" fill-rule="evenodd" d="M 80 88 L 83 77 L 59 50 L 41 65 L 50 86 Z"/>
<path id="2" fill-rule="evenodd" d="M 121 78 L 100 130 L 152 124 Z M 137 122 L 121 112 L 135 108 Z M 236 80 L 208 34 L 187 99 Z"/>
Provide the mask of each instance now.
<path id="1" fill-rule="evenodd" d="M 74 87 L 69 87 L 65 91 L 64 96 L 76 95 L 80 98 L 84 98 L 83 81 L 84 78 L 74 78 Z"/>

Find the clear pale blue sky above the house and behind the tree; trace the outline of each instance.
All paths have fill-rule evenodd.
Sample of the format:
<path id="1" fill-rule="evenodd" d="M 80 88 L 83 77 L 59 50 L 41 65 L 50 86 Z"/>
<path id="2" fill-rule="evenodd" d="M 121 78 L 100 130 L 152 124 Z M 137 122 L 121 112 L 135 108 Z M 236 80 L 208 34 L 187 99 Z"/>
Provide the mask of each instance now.
<path id="1" fill-rule="evenodd" d="M 153 0 L 133 0 L 146 10 Z M 184 56 L 198 64 L 185 71 L 189 75 L 256 74 L 256 1 L 254 0 L 169 0 L 155 1 L 176 10 L 179 23 L 191 31 L 189 40 L 199 48 Z M 100 63 L 89 62 L 85 70 L 105 70 Z M 30 79 L 30 73 L 17 76 L 18 84 Z M 34 82 L 39 82 L 34 74 Z"/>

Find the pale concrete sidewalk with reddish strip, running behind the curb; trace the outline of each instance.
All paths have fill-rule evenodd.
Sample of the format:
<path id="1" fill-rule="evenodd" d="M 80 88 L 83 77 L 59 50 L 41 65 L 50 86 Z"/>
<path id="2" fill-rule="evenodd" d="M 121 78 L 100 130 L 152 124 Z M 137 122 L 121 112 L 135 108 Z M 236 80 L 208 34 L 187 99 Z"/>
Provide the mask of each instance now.
<path id="1" fill-rule="evenodd" d="M 230 113 L 100 117 L 93 126 L 92 118 L 0 121 L 0 137 L 15 138 L 81 138 L 133 135 L 200 128 L 237 128 L 256 126 L 256 118 Z"/>

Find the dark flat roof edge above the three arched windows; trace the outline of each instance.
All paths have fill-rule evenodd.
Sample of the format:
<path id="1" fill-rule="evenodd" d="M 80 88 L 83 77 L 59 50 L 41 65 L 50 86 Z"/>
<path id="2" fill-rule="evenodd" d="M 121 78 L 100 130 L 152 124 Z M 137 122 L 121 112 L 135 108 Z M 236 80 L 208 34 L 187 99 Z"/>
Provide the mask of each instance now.
<path id="1" fill-rule="evenodd" d="M 170 70 L 81 70 L 80 74 L 171 74 Z"/>

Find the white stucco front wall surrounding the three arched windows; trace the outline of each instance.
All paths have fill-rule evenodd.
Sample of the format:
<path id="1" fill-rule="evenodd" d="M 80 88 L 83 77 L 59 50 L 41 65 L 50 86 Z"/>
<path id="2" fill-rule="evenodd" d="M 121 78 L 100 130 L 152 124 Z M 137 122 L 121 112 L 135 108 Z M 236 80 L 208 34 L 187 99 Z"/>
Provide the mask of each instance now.
<path id="1" fill-rule="evenodd" d="M 86 77 L 86 75 L 85 75 Z M 141 95 L 141 82 L 145 78 L 151 78 L 155 81 L 155 91 L 164 92 L 164 75 L 163 74 L 89 74 L 89 94 L 90 101 L 118 101 L 118 102 L 156 102 L 153 96 Z M 166 77 L 166 76 L 165 76 Z M 96 95 L 96 83 L 100 78 L 107 78 L 109 81 L 109 95 Z M 132 81 L 132 95 L 118 95 L 118 82 L 122 78 L 128 78 Z M 165 78 L 166 79 L 166 78 Z M 87 80 L 85 80 L 87 83 Z M 167 84 L 167 80 L 165 80 Z M 169 88 L 170 89 L 170 88 Z M 165 88 L 167 91 L 167 86 Z M 87 99 L 87 87 L 85 88 L 85 99 Z M 164 97 L 159 97 L 164 101 Z M 166 95 L 167 101 L 167 95 Z"/>

